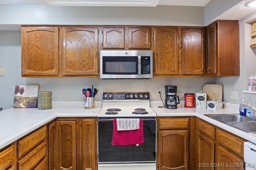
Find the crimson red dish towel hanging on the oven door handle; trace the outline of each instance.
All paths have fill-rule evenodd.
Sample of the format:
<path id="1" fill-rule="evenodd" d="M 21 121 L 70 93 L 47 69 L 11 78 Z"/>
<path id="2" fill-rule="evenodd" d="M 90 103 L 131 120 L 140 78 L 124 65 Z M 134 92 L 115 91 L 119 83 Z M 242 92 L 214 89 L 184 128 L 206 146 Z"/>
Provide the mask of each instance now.
<path id="1" fill-rule="evenodd" d="M 138 146 L 144 143 L 143 120 L 140 119 L 140 129 L 129 131 L 118 131 L 116 119 L 113 119 L 112 145 L 115 146 Z"/>

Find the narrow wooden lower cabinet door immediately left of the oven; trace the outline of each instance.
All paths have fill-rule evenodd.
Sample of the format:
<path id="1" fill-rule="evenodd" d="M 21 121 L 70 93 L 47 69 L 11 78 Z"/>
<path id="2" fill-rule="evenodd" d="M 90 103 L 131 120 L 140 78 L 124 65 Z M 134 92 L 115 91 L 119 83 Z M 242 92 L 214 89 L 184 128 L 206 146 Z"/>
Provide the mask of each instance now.
<path id="1" fill-rule="evenodd" d="M 86 170 L 96 170 L 95 125 L 95 119 L 82 120 L 82 166 Z"/>

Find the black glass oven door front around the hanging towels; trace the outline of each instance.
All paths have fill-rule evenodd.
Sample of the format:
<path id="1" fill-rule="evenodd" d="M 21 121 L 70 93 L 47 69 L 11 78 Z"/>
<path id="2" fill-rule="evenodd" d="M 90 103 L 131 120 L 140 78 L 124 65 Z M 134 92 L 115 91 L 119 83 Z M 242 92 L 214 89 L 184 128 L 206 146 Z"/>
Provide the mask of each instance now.
<path id="1" fill-rule="evenodd" d="M 156 161 L 156 121 L 143 121 L 144 143 L 140 146 L 113 146 L 113 122 L 98 122 L 99 163 Z"/>

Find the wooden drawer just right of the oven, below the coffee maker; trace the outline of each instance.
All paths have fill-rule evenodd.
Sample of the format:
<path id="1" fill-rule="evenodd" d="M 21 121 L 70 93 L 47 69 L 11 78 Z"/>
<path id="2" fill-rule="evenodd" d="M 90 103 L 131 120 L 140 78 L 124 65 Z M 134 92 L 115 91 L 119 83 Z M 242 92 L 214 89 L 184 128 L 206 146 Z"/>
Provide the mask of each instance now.
<path id="1" fill-rule="evenodd" d="M 188 118 L 159 119 L 159 129 L 188 129 Z"/>

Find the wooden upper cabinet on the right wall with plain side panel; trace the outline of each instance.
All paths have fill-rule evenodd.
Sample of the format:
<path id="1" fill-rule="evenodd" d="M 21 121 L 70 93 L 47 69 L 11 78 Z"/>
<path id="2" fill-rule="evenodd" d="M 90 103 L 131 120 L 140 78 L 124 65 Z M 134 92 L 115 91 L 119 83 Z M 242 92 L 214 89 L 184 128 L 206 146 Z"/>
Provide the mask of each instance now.
<path id="1" fill-rule="evenodd" d="M 208 76 L 239 76 L 239 23 L 217 20 L 207 27 L 206 68 Z"/>

